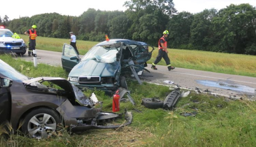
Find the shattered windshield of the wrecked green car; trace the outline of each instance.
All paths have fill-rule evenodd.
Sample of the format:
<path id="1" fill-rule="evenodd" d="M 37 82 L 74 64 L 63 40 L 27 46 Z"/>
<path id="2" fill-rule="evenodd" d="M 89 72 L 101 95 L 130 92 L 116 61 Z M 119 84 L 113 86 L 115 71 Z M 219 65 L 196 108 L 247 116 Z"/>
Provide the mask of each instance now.
<path id="1" fill-rule="evenodd" d="M 84 55 L 82 61 L 95 59 L 104 63 L 115 62 L 116 54 L 120 51 L 121 44 L 122 43 L 95 46 Z"/>

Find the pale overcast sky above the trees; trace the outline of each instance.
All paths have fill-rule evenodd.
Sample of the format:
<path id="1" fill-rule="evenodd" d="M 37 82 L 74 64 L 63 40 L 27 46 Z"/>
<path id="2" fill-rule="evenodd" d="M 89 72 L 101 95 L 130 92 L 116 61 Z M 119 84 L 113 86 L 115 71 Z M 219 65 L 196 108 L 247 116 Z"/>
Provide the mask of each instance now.
<path id="1" fill-rule="evenodd" d="M 88 8 L 106 11 L 125 11 L 123 6 L 127 0 L 9 0 L 0 6 L 0 16 L 3 19 L 7 15 L 9 19 L 42 13 L 59 13 L 61 15 L 80 16 Z M 130 1 L 130 0 L 128 0 Z M 249 3 L 256 6 L 256 0 L 173 0 L 178 12 L 187 11 L 198 13 L 204 9 L 215 8 L 220 10 L 232 4 Z"/>

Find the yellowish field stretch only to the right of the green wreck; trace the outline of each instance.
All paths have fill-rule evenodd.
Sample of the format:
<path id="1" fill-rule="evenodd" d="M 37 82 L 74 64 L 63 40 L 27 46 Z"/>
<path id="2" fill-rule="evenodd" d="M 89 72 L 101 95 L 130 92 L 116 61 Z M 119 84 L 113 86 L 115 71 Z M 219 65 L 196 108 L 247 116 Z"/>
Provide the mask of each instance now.
<path id="1" fill-rule="evenodd" d="M 209 51 L 168 49 L 171 65 L 175 67 L 256 77 L 256 56 L 216 53 Z M 148 63 L 154 62 L 153 51 Z M 166 65 L 162 59 L 159 65 Z"/>

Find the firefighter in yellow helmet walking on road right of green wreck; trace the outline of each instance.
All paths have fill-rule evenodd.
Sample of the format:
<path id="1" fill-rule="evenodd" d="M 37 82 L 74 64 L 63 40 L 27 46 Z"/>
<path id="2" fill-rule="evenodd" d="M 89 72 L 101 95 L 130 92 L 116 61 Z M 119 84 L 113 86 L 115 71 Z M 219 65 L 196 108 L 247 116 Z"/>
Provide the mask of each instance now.
<path id="1" fill-rule="evenodd" d="M 168 37 L 169 32 L 166 30 L 163 32 L 163 36 L 158 41 L 158 55 L 156 57 L 156 60 L 152 63 L 151 68 L 154 70 L 157 70 L 156 64 L 160 62 L 160 60 L 163 58 L 166 62 L 168 70 L 173 70 L 175 67 L 171 66 L 170 59 L 168 57 L 168 51 L 167 51 L 167 41 L 166 38 Z"/>

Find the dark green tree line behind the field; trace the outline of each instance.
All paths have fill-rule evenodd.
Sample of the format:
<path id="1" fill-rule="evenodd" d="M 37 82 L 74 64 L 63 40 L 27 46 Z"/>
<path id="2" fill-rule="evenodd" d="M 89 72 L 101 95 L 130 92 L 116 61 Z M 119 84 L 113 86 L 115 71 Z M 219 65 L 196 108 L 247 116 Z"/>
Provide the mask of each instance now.
<path id="1" fill-rule="evenodd" d="M 89 8 L 78 17 L 45 13 L 0 23 L 19 34 L 35 24 L 44 37 L 69 38 L 72 31 L 80 40 L 103 41 L 108 34 L 154 46 L 168 30 L 168 48 L 256 55 L 256 9 L 250 4 L 196 14 L 177 13 L 172 0 L 130 0 L 124 5 L 125 12 Z"/>

